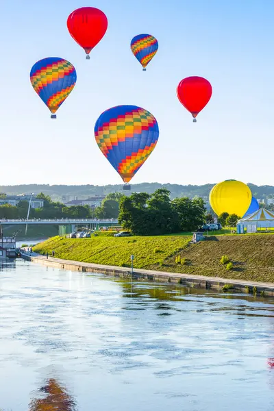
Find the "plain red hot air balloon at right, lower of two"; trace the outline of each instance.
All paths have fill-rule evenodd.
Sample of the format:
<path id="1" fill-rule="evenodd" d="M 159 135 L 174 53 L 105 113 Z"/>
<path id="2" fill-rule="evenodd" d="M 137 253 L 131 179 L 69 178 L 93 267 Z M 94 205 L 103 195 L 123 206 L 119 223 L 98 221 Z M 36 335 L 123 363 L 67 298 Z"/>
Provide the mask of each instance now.
<path id="1" fill-rule="evenodd" d="M 197 115 L 206 107 L 211 95 L 212 86 L 203 77 L 186 77 L 177 86 L 178 99 L 184 108 L 192 114 L 193 123 L 196 123 Z"/>

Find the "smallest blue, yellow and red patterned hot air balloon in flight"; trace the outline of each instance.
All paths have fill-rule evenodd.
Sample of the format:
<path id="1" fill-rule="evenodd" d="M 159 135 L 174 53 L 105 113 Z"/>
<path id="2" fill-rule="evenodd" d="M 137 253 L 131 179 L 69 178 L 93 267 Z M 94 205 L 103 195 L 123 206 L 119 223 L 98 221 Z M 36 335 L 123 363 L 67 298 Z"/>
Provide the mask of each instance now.
<path id="1" fill-rule="evenodd" d="M 142 70 L 146 71 L 147 64 L 158 51 L 158 41 L 150 34 L 138 34 L 132 38 L 130 47 L 138 62 L 142 64 Z"/>

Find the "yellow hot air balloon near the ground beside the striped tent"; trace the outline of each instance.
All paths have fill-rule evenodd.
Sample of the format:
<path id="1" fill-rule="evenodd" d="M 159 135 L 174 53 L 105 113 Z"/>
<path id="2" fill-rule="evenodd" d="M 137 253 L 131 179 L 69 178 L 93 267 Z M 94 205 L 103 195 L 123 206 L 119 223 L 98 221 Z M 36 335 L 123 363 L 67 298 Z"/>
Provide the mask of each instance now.
<path id="1" fill-rule="evenodd" d="M 226 180 L 216 184 L 210 191 L 210 206 L 217 216 L 223 212 L 242 217 L 249 209 L 252 193 L 247 184 Z"/>

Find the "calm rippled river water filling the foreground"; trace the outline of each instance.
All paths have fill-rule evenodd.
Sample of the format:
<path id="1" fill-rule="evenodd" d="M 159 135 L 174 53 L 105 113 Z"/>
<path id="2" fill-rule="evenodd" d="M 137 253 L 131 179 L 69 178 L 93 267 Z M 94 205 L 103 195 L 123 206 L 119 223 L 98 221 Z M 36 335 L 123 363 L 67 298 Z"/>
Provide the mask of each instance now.
<path id="1" fill-rule="evenodd" d="M 273 300 L 0 270 L 0 409 L 273 411 Z"/>

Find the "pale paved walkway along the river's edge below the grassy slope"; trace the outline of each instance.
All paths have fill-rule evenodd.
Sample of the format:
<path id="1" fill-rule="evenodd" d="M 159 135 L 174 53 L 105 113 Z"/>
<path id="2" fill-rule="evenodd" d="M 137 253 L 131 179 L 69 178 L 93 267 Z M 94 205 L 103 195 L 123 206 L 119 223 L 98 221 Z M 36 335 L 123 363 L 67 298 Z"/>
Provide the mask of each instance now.
<path id="1" fill-rule="evenodd" d="M 37 262 L 43 262 L 45 263 L 48 261 L 49 263 L 59 263 L 59 264 L 69 264 L 69 265 L 75 265 L 75 266 L 81 266 L 81 267 L 86 267 L 90 268 L 93 270 L 99 269 L 99 270 L 105 270 L 105 271 L 119 271 L 119 272 L 124 272 L 124 273 L 129 273 L 131 269 L 129 267 L 119 267 L 119 266 L 109 266 L 109 265 L 102 265 L 102 264 L 92 264 L 91 262 L 79 262 L 79 261 L 73 261 L 73 260 L 62 260 L 61 258 L 53 258 L 49 256 L 42 256 L 41 254 L 38 253 L 28 253 L 27 251 L 22 255 L 24 256 L 31 257 L 32 260 L 37 261 Z M 238 284 L 239 286 L 249 286 L 249 287 L 256 287 L 256 288 L 269 288 L 269 290 L 273 290 L 274 292 L 274 283 L 263 283 L 263 282 L 252 282 L 252 281 L 244 281 L 241 279 L 229 279 L 229 278 L 220 278 L 220 277 L 206 277 L 205 275 L 192 275 L 192 274 L 180 274 L 180 273 L 169 273 L 165 271 L 151 271 L 151 270 L 143 270 L 143 269 L 134 269 L 134 273 L 140 274 L 140 275 L 151 275 L 152 277 L 163 277 L 163 279 L 166 277 L 169 278 L 181 278 L 181 279 L 188 279 L 188 280 L 200 280 L 201 282 L 220 282 L 223 284 Z"/>

